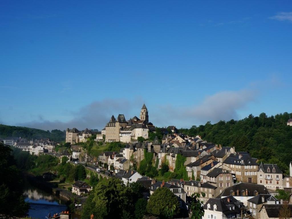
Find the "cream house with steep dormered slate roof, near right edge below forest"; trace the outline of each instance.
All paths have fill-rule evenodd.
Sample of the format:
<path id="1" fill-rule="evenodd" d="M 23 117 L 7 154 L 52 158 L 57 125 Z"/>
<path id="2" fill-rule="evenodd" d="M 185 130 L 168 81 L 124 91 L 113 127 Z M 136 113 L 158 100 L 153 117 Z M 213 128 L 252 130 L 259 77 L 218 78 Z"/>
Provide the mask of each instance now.
<path id="1" fill-rule="evenodd" d="M 264 185 L 268 190 L 283 189 L 283 172 L 277 164 L 263 164 L 258 167 L 258 184 Z"/>

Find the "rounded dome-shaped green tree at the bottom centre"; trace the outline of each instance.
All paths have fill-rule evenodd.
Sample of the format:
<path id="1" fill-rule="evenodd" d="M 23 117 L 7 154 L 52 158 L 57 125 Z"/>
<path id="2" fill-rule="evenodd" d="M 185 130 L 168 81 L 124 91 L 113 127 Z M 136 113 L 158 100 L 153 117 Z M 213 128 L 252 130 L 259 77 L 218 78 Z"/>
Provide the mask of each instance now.
<path id="1" fill-rule="evenodd" d="M 150 196 L 147 204 L 147 211 L 153 215 L 160 216 L 162 218 L 168 217 L 166 215 L 166 207 L 173 208 L 176 206 L 173 215 L 179 213 L 178 197 L 176 197 L 168 188 L 161 187 L 155 190 Z"/>

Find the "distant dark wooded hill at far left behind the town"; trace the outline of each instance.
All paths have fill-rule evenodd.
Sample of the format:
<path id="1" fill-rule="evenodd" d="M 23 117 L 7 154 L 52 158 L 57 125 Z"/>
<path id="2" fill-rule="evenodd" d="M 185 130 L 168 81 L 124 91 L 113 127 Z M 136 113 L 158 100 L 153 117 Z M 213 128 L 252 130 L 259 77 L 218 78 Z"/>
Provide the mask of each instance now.
<path id="1" fill-rule="evenodd" d="M 36 128 L 21 126 L 6 126 L 0 124 L 0 138 L 15 137 L 26 138 L 27 140 L 50 138 L 52 141 L 60 142 L 65 140 L 65 132 L 58 129 L 44 131 Z"/>

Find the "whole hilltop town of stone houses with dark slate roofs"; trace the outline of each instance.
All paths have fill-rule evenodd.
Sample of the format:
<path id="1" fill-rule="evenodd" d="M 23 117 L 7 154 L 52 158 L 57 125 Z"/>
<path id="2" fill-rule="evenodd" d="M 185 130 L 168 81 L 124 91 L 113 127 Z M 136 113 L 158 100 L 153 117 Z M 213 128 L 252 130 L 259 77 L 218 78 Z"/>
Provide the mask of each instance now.
<path id="1" fill-rule="evenodd" d="M 291 126 L 291 119 L 287 121 Z M 101 132 L 86 128 L 66 130 L 65 143 L 49 139 L 4 139 L 32 155 L 42 154 L 83 165 L 104 178 L 114 177 L 124 185 L 140 183 L 146 200 L 159 188 L 167 188 L 176 197 L 181 212 L 192 214 L 192 197 L 198 197 L 206 219 L 278 218 L 279 209 L 292 204 L 292 162 L 290 174 L 284 174 L 277 163 L 263 163 L 246 151 L 208 142 L 201 136 L 179 133 L 175 126 L 157 128 L 149 120 L 143 104 L 140 117 L 126 120 L 124 114 L 114 115 Z M 119 150 L 88 153 L 88 145 L 111 145 Z M 61 147 L 67 145 L 66 147 Z M 86 147 L 87 145 L 87 147 Z M 115 147 L 117 146 L 118 147 Z M 56 151 L 55 147 L 59 147 Z M 84 181 L 72 184 L 72 193 L 91 193 L 93 187 Z M 282 193 L 288 199 L 281 198 Z M 279 194 L 280 193 L 280 194 Z M 291 208 L 292 205 L 288 205 Z M 275 210 L 278 209 L 278 210 Z M 151 213 L 151 212 L 149 212 Z"/>

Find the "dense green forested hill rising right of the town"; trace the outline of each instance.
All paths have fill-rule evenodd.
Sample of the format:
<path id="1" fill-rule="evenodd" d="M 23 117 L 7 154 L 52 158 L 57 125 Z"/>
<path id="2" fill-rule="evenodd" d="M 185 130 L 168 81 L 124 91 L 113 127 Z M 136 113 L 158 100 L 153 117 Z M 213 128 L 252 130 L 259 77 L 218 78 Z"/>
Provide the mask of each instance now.
<path id="1" fill-rule="evenodd" d="M 248 151 L 264 163 L 278 164 L 285 173 L 292 161 L 292 126 L 287 126 L 290 118 L 292 113 L 287 112 L 271 117 L 265 113 L 256 117 L 251 114 L 239 121 L 207 122 L 179 131 L 190 136 L 200 135 L 204 140 L 225 147 L 235 146 L 237 152 Z"/>

